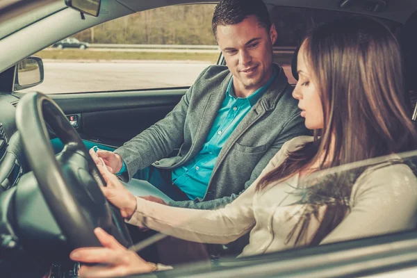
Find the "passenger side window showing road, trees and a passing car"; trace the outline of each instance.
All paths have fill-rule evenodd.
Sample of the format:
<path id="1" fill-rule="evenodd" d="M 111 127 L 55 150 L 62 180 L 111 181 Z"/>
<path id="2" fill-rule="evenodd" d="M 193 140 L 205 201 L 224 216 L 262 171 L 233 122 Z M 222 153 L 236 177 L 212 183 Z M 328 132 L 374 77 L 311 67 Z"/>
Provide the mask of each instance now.
<path id="1" fill-rule="evenodd" d="M 220 55 L 211 31 L 214 7 L 156 8 L 77 33 L 35 54 L 44 62 L 44 81 L 22 91 L 188 87 Z"/>

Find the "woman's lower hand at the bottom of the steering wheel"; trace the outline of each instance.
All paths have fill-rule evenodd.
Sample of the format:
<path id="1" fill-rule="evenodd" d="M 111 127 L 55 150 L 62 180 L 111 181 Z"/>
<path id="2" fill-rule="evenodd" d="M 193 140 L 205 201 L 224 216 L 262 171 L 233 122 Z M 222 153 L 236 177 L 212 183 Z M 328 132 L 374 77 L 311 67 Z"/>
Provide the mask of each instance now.
<path id="1" fill-rule="evenodd" d="M 71 252 L 70 258 L 80 263 L 104 265 L 81 266 L 81 277 L 122 277 L 154 270 L 153 264 L 147 263 L 135 252 L 126 250 L 103 229 L 96 228 L 94 233 L 104 247 L 79 248 Z"/>

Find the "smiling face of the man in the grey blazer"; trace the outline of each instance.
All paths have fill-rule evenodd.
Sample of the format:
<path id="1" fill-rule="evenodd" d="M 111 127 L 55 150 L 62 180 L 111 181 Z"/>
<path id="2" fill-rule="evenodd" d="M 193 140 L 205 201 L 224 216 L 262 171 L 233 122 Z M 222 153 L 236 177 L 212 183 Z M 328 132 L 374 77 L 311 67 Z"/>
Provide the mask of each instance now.
<path id="1" fill-rule="evenodd" d="M 234 75 L 235 88 L 252 92 L 261 88 L 272 74 L 275 26 L 266 30 L 251 15 L 239 24 L 218 26 L 217 36 L 227 67 Z"/>

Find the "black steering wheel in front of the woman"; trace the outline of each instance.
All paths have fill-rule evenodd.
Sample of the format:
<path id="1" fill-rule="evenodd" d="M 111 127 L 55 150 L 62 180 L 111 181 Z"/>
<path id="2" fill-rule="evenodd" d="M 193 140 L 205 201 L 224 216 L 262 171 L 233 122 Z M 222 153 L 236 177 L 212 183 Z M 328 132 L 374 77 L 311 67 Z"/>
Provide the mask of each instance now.
<path id="1" fill-rule="evenodd" d="M 69 247 L 101 246 L 93 232 L 96 227 L 125 247 L 132 245 L 120 211 L 99 188 L 106 186 L 103 177 L 58 105 L 42 93 L 28 93 L 17 105 L 16 121 L 28 163 Z M 64 144 L 56 156 L 47 125 Z"/>

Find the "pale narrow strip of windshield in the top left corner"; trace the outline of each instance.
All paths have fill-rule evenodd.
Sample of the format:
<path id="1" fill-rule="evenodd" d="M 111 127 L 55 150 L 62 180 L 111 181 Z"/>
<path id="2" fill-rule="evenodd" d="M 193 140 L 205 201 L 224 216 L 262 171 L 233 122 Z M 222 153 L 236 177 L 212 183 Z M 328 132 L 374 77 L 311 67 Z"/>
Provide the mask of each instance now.
<path id="1" fill-rule="evenodd" d="M 26 15 L 10 19 L 6 22 L 0 22 L 0 40 L 63 8 L 66 8 L 64 1 L 57 1 L 56 3 L 33 10 Z"/>

